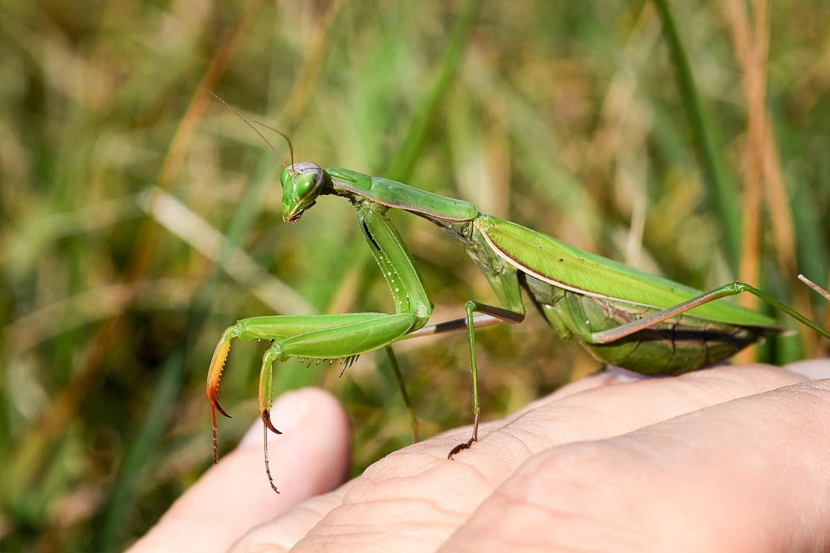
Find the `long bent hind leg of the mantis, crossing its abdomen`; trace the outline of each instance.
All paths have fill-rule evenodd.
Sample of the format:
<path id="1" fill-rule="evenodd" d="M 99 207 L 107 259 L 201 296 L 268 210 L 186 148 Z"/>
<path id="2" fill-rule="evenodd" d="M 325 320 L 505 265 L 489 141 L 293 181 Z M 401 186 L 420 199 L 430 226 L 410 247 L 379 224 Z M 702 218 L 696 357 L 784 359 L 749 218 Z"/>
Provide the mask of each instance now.
<path id="1" fill-rule="evenodd" d="M 699 307 L 705 303 L 713 302 L 715 299 L 726 298 L 727 296 L 735 296 L 741 292 L 749 292 L 758 298 L 764 300 L 764 302 L 769 303 L 774 308 L 779 308 L 784 313 L 787 313 L 790 317 L 797 320 L 799 323 L 803 323 L 807 327 L 812 328 L 814 331 L 821 334 L 823 337 L 830 338 L 830 332 L 819 327 L 816 323 L 813 323 L 810 319 L 804 317 L 798 311 L 795 311 L 793 308 L 790 308 L 789 305 L 785 303 L 779 302 L 779 300 L 773 298 L 768 293 L 764 293 L 763 291 L 750 286 L 749 284 L 745 284 L 742 282 L 732 282 L 730 284 L 724 284 L 716 289 L 710 290 L 709 292 L 702 293 L 700 296 L 696 298 L 691 298 L 690 300 L 678 303 L 676 306 L 664 309 L 658 313 L 654 313 L 653 315 L 649 315 L 648 317 L 644 317 L 641 319 L 637 319 L 636 321 L 632 321 L 631 323 L 623 324 L 619 327 L 614 327 L 610 330 L 606 330 L 603 332 L 592 332 L 590 336 L 589 343 L 594 344 L 607 344 L 610 342 L 616 342 L 617 340 L 630 336 L 634 332 L 639 332 L 644 330 L 648 327 L 652 327 L 657 323 L 662 323 L 666 319 L 676 317 L 687 311 Z"/>

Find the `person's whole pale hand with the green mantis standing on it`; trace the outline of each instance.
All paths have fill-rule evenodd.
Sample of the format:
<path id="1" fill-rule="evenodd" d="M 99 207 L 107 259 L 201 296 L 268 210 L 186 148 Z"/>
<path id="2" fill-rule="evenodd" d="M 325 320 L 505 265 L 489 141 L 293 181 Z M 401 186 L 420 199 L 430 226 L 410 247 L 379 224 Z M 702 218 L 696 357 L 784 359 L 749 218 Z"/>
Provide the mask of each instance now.
<path id="1" fill-rule="evenodd" d="M 828 360 L 606 372 L 482 424 L 453 460 L 469 428 L 339 488 L 345 415 L 300 390 L 273 413 L 280 496 L 255 425 L 130 551 L 828 551 L 828 377 Z"/>

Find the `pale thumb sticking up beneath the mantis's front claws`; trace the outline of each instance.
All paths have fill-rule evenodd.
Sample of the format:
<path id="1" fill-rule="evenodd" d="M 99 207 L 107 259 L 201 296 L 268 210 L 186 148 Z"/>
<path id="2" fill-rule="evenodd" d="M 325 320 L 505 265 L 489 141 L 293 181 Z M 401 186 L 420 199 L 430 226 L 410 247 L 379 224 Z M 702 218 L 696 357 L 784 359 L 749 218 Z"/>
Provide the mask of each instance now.
<path id="1" fill-rule="evenodd" d="M 271 409 L 283 432 L 269 436 L 271 470 L 281 488 L 268 486 L 262 458 L 262 421 L 237 449 L 173 503 L 129 553 L 227 551 L 257 524 L 339 486 L 349 475 L 349 422 L 339 402 L 324 390 L 286 392 Z"/>

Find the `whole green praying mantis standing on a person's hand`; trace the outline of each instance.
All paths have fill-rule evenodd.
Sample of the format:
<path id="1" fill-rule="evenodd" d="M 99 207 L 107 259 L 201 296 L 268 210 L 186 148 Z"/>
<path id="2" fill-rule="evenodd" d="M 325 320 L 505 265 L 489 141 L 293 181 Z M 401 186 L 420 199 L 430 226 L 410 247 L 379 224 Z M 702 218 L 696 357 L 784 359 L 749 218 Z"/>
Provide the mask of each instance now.
<path id="1" fill-rule="evenodd" d="M 749 284 L 732 282 L 703 293 L 486 215 L 467 201 L 349 169 L 294 163 L 293 148 L 291 164 L 286 164 L 242 114 L 205 89 L 237 114 L 280 158 L 284 167 L 280 177 L 284 221 L 300 221 L 320 196 L 338 196 L 354 206 L 359 229 L 395 304 L 395 313 L 246 318 L 222 333 L 207 373 L 214 462 L 218 462 L 216 413 L 229 416 L 219 405 L 218 395 L 231 342 L 234 338 L 267 340 L 271 346 L 262 357 L 259 408 L 265 434 L 266 475 L 275 492 L 267 453 L 268 429 L 281 434 L 269 414 L 274 361 L 291 357 L 339 361 L 345 370 L 359 355 L 384 348 L 410 407 L 417 439 L 417 425 L 392 345 L 408 338 L 465 330 L 470 347 L 473 428 L 470 439 L 449 452 L 447 457 L 452 458 L 478 439 L 481 405 L 476 329 L 521 323 L 525 318 L 521 289 L 560 338 L 577 340 L 598 361 L 643 375 L 676 375 L 710 366 L 764 336 L 780 332 L 775 320 L 764 313 L 717 301 L 743 292 L 754 294 L 830 338 L 830 332 Z M 465 317 L 431 323 L 432 301 L 413 255 L 386 214 L 390 209 L 421 216 L 458 240 L 485 275 L 500 306 L 470 300 L 464 305 Z M 824 292 L 815 285 L 813 288 Z"/>

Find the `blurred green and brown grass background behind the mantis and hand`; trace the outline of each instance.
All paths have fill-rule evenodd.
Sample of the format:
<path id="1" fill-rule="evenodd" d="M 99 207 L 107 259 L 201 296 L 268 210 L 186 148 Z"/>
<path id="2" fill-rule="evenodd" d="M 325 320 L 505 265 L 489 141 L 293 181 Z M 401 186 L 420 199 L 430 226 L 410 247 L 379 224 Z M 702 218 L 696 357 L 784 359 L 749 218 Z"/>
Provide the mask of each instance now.
<path id="1" fill-rule="evenodd" d="M 748 129 L 763 117 L 720 2 L 476 3 L 0 5 L 3 551 L 119 549 L 157 520 L 210 463 L 204 376 L 237 318 L 389 308 L 352 208 L 324 198 L 281 224 L 276 159 L 199 80 L 291 133 L 298 160 L 461 197 L 699 288 L 754 264 L 763 288 L 824 316 L 791 269 L 828 283 L 827 2 L 769 8 L 762 88 L 786 201 L 759 192 L 751 248 Z M 774 222 L 788 216 L 789 243 Z M 437 318 L 492 298 L 441 232 L 393 219 Z M 535 313 L 480 337 L 486 417 L 598 368 Z M 792 336 L 755 354 L 821 347 Z M 422 435 L 466 424 L 465 338 L 396 349 Z M 223 450 L 256 416 L 261 352 L 233 347 Z M 355 474 L 408 444 L 383 355 L 340 380 L 289 361 L 276 383 L 344 401 Z"/>

